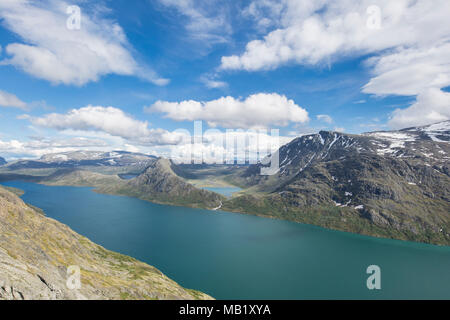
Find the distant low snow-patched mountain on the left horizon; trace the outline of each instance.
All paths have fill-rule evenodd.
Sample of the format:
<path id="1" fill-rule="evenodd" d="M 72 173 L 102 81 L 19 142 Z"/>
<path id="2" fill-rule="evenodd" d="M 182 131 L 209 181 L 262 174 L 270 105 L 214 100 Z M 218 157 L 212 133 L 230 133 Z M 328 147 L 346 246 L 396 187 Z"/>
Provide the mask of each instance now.
<path id="1" fill-rule="evenodd" d="M 73 151 L 53 153 L 39 160 L 19 160 L 7 165 L 9 170 L 79 167 L 137 167 L 145 168 L 156 157 L 126 151 Z"/>

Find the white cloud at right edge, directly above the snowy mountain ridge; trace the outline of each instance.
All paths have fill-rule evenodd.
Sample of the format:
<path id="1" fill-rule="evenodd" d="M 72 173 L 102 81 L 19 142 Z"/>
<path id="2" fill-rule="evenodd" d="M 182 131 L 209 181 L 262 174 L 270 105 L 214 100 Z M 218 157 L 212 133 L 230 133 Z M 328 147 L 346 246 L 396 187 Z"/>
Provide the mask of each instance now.
<path id="1" fill-rule="evenodd" d="M 374 78 L 363 92 L 375 95 L 415 95 L 416 102 L 396 109 L 388 122 L 391 128 L 425 125 L 450 119 L 450 43 L 427 49 L 397 50 L 372 58 Z"/>

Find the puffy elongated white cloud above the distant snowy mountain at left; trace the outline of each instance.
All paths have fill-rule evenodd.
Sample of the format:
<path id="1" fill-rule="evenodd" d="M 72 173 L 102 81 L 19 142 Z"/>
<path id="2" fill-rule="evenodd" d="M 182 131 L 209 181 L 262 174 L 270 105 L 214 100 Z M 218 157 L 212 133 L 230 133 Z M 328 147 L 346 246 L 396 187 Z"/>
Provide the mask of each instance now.
<path id="1" fill-rule="evenodd" d="M 181 137 L 163 129 L 152 129 L 114 107 L 86 106 L 65 114 L 51 113 L 43 117 L 28 117 L 35 126 L 64 130 L 102 132 L 143 145 L 177 144 Z"/>

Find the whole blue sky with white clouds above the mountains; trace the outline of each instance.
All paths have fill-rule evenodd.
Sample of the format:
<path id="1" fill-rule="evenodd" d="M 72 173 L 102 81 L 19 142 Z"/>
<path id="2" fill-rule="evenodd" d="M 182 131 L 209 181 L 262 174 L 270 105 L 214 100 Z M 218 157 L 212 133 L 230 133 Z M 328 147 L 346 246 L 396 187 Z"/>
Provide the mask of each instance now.
<path id="1" fill-rule="evenodd" d="M 449 16 L 448 0 L 0 0 L 0 156 L 170 156 L 195 121 L 281 143 L 444 121 Z"/>

